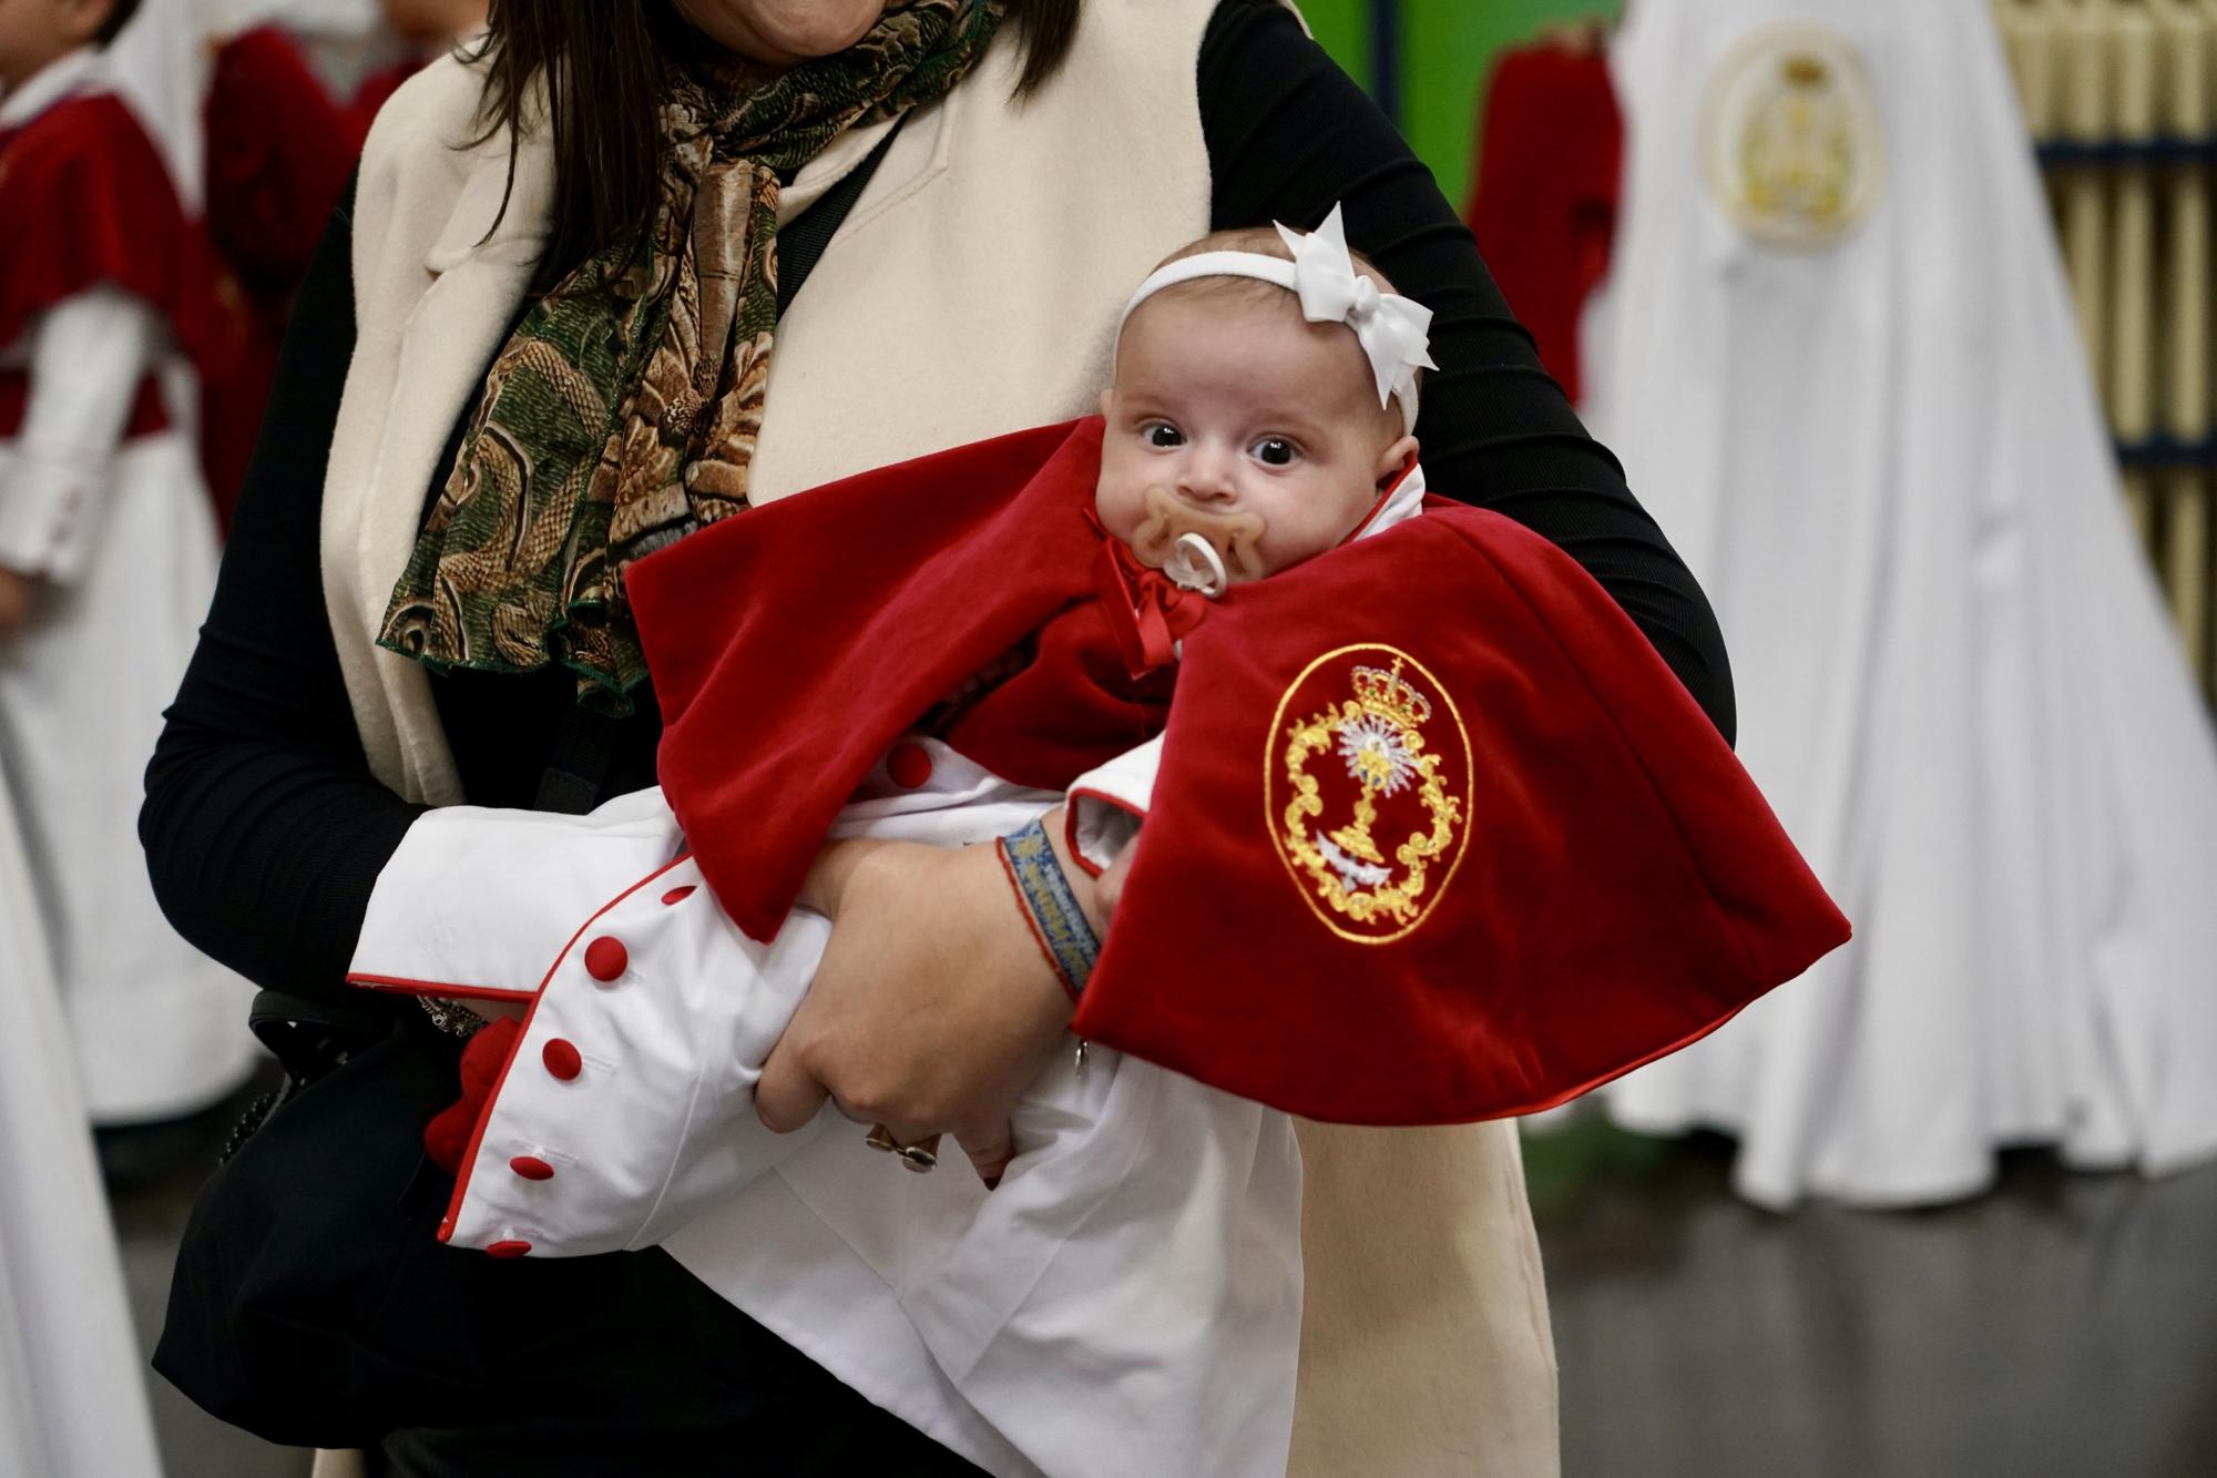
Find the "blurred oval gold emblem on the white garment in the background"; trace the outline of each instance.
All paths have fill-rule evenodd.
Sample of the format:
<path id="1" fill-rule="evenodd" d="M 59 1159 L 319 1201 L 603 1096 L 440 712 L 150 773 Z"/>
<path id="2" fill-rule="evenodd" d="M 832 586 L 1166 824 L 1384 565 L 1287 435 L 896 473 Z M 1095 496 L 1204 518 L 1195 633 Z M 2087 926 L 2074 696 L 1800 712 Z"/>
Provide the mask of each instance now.
<path id="1" fill-rule="evenodd" d="M 1787 22 L 1734 47 L 1709 82 L 1703 135 L 1718 206 L 1763 244 L 1831 246 L 1878 206 L 1878 91 L 1838 31 Z"/>

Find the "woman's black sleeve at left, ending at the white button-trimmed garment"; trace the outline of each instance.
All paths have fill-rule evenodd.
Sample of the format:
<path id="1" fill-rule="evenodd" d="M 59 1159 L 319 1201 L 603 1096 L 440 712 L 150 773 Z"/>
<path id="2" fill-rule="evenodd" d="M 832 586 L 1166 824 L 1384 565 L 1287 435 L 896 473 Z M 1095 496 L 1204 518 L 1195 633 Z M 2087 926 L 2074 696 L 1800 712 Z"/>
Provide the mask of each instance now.
<path id="1" fill-rule="evenodd" d="M 324 462 L 355 351 L 355 186 L 286 333 L 200 648 L 146 768 L 162 912 L 257 985 L 341 990 L 370 888 L 419 808 L 370 777 L 324 615 Z M 244 1005 L 244 1003 L 242 1003 Z"/>

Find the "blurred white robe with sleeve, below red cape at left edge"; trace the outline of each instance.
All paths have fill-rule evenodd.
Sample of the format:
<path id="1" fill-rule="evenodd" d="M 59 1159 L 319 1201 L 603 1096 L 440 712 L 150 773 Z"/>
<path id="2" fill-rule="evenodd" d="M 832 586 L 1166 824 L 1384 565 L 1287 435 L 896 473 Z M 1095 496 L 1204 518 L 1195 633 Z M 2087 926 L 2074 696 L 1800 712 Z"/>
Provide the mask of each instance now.
<path id="1" fill-rule="evenodd" d="M 27 337 L 0 351 L 31 364 L 24 435 L 0 442 L 0 564 L 51 584 L 0 648 L 0 757 L 86 1107 L 173 1118 L 255 1056 L 246 985 L 168 928 L 137 839 L 146 757 L 215 588 L 215 515 L 180 431 L 118 446 L 129 388 L 166 353 L 151 308 L 93 288 Z"/>

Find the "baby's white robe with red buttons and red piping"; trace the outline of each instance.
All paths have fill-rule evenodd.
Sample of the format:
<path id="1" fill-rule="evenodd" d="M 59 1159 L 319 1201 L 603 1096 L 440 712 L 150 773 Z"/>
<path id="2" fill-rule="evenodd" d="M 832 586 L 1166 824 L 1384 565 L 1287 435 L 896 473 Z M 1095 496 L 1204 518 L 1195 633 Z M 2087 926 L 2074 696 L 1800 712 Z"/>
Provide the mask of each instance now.
<path id="1" fill-rule="evenodd" d="M 834 834 L 964 846 L 1062 799 L 909 743 L 931 779 L 880 766 Z M 532 1003 L 450 1245 L 667 1245 L 1000 1478 L 1284 1474 L 1301 1334 L 1293 1121 L 1095 1047 L 1082 1070 L 1058 1054 L 1024 1092 L 993 1192 L 951 1141 L 936 1174 L 905 1174 L 836 1105 L 772 1134 L 754 1081 L 831 930 L 794 910 L 774 943 L 749 941 L 698 865 L 670 861 L 681 848 L 658 790 L 581 819 L 454 806 L 410 828 L 379 877 L 357 983 L 430 994 L 461 979 Z M 623 954 L 596 963 L 610 945 Z M 563 1045 L 568 1067 L 550 1056 Z"/>

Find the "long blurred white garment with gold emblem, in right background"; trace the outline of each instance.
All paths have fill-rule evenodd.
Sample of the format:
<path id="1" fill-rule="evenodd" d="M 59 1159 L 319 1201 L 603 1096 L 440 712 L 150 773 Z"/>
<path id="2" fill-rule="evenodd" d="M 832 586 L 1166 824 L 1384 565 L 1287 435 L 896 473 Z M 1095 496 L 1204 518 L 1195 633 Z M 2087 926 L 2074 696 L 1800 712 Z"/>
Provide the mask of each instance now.
<path id="1" fill-rule="evenodd" d="M 1738 1134 L 1774 1207 L 1966 1196 L 2004 1143 L 2217 1154 L 2217 750 L 1986 7 L 1643 4 L 1614 64 L 1587 415 L 1714 599 L 1740 757 L 1858 937 L 1610 1110 Z"/>

